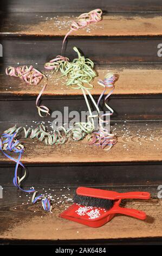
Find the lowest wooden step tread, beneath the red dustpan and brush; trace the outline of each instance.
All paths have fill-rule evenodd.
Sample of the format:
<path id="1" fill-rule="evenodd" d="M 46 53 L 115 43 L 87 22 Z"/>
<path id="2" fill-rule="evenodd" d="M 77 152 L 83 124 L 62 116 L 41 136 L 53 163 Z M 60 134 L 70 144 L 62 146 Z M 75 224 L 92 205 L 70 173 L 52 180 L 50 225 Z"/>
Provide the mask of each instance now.
<path id="1" fill-rule="evenodd" d="M 127 191 L 149 191 L 152 194 L 150 200 L 123 200 L 123 207 L 135 208 L 145 211 L 147 219 L 140 221 L 135 218 L 118 215 L 111 222 L 100 228 L 92 229 L 72 221 L 59 218 L 59 214 L 72 204 L 69 200 L 73 198 L 74 187 L 39 187 L 40 192 L 47 191 L 57 198 L 59 204 L 54 203 L 53 213 L 43 211 L 41 204 L 32 205 L 31 196 L 17 191 L 14 187 L 4 187 L 3 199 L 0 201 L 1 209 L 1 241 L 12 240 L 59 240 L 59 243 L 70 240 L 80 240 L 88 242 L 100 242 L 113 239 L 155 239 L 162 236 L 161 231 L 161 200 L 157 198 L 157 187 L 129 186 L 129 187 L 102 187 L 107 190 L 118 192 Z M 64 199 L 62 194 L 67 195 Z M 58 199 L 59 198 L 59 199 Z M 63 203 L 64 202 L 64 203 Z M 44 232 L 46 230 L 46 232 Z M 21 242 L 21 241 L 20 241 Z M 58 242 L 57 242 L 58 243 Z"/>

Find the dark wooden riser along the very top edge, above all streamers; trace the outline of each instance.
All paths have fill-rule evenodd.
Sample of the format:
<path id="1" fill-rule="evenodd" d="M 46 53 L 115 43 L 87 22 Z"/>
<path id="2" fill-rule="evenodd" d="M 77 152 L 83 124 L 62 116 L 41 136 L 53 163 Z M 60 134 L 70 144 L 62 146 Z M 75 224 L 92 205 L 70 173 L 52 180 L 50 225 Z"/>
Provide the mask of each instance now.
<path id="1" fill-rule="evenodd" d="M 162 11 L 160 0 L 1 0 L 1 10 L 10 12 L 87 12 L 96 8 L 111 12 Z"/>

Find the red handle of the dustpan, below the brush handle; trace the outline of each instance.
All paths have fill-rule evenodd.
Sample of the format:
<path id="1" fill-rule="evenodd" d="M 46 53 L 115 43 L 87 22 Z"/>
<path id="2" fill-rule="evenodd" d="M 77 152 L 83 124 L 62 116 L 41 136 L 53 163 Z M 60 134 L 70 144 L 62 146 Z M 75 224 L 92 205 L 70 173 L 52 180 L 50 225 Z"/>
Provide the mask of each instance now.
<path id="1" fill-rule="evenodd" d="M 135 210 L 135 209 L 130 209 L 130 208 L 113 208 L 112 210 L 110 210 L 111 214 L 124 214 L 124 215 L 128 215 L 134 218 L 139 218 L 140 220 L 145 220 L 146 219 L 146 214 L 144 211 L 139 211 L 139 210 Z"/>

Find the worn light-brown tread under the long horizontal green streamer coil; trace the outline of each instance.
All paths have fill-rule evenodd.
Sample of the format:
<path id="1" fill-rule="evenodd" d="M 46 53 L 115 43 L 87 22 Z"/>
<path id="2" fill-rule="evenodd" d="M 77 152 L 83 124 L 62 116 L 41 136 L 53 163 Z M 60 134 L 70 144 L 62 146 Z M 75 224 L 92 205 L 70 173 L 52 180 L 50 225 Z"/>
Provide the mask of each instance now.
<path id="1" fill-rule="evenodd" d="M 24 163 L 87 163 L 87 162 L 139 162 L 162 161 L 161 122 L 134 122 L 111 127 L 118 142 L 105 151 L 86 141 L 67 142 L 58 146 L 46 146 L 41 142 L 22 139 Z M 11 154 L 15 156 L 15 154 Z M 11 162 L 1 153 L 1 162 Z M 12 162 L 13 164 L 13 162 Z"/>

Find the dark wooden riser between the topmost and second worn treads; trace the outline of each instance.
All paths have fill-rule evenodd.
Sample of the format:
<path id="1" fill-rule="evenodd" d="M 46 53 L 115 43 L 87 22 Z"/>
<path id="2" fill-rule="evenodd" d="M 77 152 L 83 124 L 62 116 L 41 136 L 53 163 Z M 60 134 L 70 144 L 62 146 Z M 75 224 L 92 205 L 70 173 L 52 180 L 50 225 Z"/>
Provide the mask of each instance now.
<path id="1" fill-rule="evenodd" d="M 62 38 L 25 37 L 3 38 L 3 63 L 46 63 L 61 54 Z M 84 39 L 84 40 L 83 40 Z M 81 49 L 86 57 L 96 63 L 161 63 L 158 57 L 158 44 L 161 38 L 107 38 L 99 37 L 71 37 L 68 39 L 66 56 L 76 58 L 73 47 Z M 146 40 L 147 39 L 147 40 Z M 92 50 L 93 45 L 93 50 Z M 100 47 L 99 47 L 100 46 Z"/>

